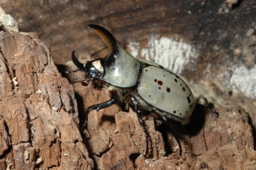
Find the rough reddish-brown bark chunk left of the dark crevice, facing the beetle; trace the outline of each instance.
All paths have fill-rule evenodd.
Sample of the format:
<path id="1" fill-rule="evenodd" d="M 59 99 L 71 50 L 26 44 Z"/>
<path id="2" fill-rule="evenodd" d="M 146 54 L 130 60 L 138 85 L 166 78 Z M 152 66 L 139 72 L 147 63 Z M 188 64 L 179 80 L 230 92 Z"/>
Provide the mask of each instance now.
<path id="1" fill-rule="evenodd" d="M 93 169 L 72 86 L 35 33 L 0 32 L 0 169 Z"/>

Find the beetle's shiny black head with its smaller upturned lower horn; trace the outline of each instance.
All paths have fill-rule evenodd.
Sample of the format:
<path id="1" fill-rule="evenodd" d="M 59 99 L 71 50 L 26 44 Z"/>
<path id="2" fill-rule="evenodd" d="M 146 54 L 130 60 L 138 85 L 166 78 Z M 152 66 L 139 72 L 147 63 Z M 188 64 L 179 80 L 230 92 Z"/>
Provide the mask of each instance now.
<path id="1" fill-rule="evenodd" d="M 80 63 L 76 56 L 75 56 L 75 50 L 72 52 L 72 61 L 73 63 L 83 70 L 83 72 L 86 73 L 86 78 L 88 79 L 88 82 L 84 83 L 84 86 L 87 86 L 90 82 L 99 80 L 100 77 L 103 75 L 103 68 L 100 63 L 100 60 L 102 58 L 97 58 L 92 61 L 87 61 L 85 64 Z"/>

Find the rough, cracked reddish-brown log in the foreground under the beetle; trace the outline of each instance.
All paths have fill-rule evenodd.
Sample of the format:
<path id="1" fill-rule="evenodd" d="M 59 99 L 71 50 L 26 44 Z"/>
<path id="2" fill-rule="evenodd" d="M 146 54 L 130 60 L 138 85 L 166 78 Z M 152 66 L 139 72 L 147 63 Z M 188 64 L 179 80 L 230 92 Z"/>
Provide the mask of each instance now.
<path id="1" fill-rule="evenodd" d="M 117 105 L 92 111 L 80 134 L 85 109 L 108 100 L 108 94 L 76 79 L 71 86 L 35 33 L 2 31 L 0 37 L 2 169 L 255 168 L 252 122 L 242 107 L 220 107 L 219 118 L 197 108 L 189 125 L 175 124 L 181 157 L 179 150 L 168 150 L 177 148 L 172 135 L 166 137 L 168 128 L 157 127 L 150 116 L 144 118 L 150 136 L 144 155 L 145 135 L 136 113 L 122 112 Z M 71 77 L 76 74 L 83 79 L 79 72 Z"/>

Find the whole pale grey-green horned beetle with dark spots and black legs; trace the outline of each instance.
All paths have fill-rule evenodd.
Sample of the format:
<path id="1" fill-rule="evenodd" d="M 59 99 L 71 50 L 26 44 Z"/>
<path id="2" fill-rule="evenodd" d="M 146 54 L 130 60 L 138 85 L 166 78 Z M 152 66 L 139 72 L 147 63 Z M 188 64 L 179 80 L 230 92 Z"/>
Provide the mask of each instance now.
<path id="1" fill-rule="evenodd" d="M 104 27 L 89 24 L 109 48 L 109 54 L 105 58 L 80 63 L 75 51 L 72 52 L 72 61 L 78 70 L 86 73 L 88 86 L 92 81 L 102 84 L 111 94 L 110 100 L 90 106 L 85 112 L 85 121 L 81 132 L 86 127 L 90 111 L 104 109 L 113 104 L 129 105 L 137 113 L 140 125 L 146 137 L 148 150 L 148 134 L 141 114 L 150 114 L 156 120 L 163 121 L 170 127 L 180 148 L 179 136 L 168 120 L 180 121 L 182 125 L 189 122 L 196 101 L 191 89 L 178 75 L 161 65 L 143 59 L 135 59 L 124 50 L 116 39 Z M 124 109 L 125 110 L 125 109 Z M 212 109 L 212 111 L 214 111 Z M 218 112 L 214 111 L 216 114 Z M 147 151 L 146 151 L 147 152 Z"/>

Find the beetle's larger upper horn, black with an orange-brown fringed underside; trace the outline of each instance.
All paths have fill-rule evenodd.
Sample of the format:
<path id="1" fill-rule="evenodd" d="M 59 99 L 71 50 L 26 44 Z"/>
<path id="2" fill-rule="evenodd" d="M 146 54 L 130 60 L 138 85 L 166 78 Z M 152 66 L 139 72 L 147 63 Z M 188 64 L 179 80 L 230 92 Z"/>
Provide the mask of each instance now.
<path id="1" fill-rule="evenodd" d="M 100 36 L 100 38 L 104 40 L 104 42 L 108 45 L 109 53 L 112 53 L 118 49 L 116 45 L 116 38 L 111 33 L 109 33 L 107 29 L 94 24 L 88 24 L 87 26 L 88 28 L 92 28 L 93 31 L 95 31 Z"/>

